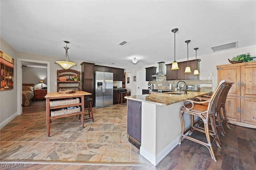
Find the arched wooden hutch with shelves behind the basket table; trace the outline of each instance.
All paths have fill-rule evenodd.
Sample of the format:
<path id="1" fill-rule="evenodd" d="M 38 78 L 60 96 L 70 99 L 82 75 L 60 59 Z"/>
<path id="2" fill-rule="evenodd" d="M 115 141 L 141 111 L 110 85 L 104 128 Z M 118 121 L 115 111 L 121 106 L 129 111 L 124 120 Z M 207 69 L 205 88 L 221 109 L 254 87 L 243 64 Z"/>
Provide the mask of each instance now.
<path id="1" fill-rule="evenodd" d="M 74 75 L 78 75 L 79 79 L 80 77 L 80 71 L 76 71 L 73 69 L 62 69 L 57 70 L 57 92 L 60 90 L 81 90 L 81 81 L 74 81 L 72 80 L 72 77 Z M 66 77 L 67 80 L 63 81 L 60 80 L 60 77 Z"/>

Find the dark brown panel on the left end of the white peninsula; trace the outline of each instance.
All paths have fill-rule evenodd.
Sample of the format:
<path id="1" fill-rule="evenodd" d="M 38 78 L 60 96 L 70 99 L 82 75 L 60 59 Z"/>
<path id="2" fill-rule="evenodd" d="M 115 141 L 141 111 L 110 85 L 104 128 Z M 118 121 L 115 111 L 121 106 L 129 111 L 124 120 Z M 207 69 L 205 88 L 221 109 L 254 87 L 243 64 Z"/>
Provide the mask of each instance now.
<path id="1" fill-rule="evenodd" d="M 127 100 L 127 133 L 129 142 L 136 148 L 141 146 L 141 102 Z"/>

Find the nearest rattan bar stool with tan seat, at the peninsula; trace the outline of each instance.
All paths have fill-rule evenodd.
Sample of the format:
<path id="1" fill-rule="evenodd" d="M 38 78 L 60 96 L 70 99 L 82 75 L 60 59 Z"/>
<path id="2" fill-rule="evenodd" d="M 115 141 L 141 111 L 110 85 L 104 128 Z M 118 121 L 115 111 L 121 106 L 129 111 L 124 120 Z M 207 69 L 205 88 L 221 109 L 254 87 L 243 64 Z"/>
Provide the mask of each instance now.
<path id="1" fill-rule="evenodd" d="M 181 136 L 179 144 L 186 138 L 192 140 L 199 144 L 202 144 L 208 148 L 210 151 L 211 157 L 216 161 L 213 142 L 216 142 L 217 146 L 220 147 L 220 138 L 218 136 L 218 129 L 216 127 L 216 106 L 218 99 L 222 94 L 222 91 L 225 87 L 225 84 L 228 83 L 225 80 L 220 81 L 218 87 L 215 89 L 211 98 L 206 101 L 194 101 L 194 100 L 185 100 L 183 102 L 183 107 L 180 108 L 180 121 L 181 121 Z M 207 105 L 204 105 L 207 104 Z M 190 115 L 190 127 L 185 130 L 183 115 L 187 113 Z M 199 117 L 204 123 L 203 127 L 197 126 L 198 123 L 194 122 L 194 116 Z M 209 123 L 210 121 L 210 123 Z M 211 125 L 211 130 L 209 128 Z M 190 136 L 193 130 L 197 130 L 206 135 L 206 140 L 197 138 L 197 136 Z M 189 132 L 187 134 L 187 132 Z M 210 137 L 211 136 L 211 137 Z"/>

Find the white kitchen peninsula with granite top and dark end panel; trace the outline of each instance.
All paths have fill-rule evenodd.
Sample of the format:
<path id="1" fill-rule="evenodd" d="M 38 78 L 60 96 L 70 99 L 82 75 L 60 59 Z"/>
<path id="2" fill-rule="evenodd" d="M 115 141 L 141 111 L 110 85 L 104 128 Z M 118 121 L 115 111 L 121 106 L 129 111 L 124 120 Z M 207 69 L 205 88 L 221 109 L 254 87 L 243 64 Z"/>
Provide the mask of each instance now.
<path id="1" fill-rule="evenodd" d="M 186 99 L 210 94 L 212 91 L 189 91 L 126 96 L 127 133 L 129 141 L 140 154 L 155 166 L 178 144 L 181 132 L 180 107 Z M 184 115 L 185 128 L 190 118 Z"/>

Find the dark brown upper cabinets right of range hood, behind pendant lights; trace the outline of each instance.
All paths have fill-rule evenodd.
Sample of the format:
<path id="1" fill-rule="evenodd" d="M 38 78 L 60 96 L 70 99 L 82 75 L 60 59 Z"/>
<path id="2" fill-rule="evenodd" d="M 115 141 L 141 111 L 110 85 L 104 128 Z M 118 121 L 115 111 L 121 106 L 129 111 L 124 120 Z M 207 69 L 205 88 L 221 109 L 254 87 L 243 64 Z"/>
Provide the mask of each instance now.
<path id="1" fill-rule="evenodd" d="M 172 70 L 172 64 L 166 64 L 166 80 L 199 80 L 199 75 L 194 75 L 196 64 L 200 70 L 200 59 L 178 62 L 178 70 Z M 191 73 L 184 73 L 187 65 L 190 67 Z"/>

